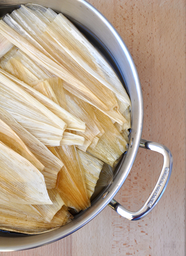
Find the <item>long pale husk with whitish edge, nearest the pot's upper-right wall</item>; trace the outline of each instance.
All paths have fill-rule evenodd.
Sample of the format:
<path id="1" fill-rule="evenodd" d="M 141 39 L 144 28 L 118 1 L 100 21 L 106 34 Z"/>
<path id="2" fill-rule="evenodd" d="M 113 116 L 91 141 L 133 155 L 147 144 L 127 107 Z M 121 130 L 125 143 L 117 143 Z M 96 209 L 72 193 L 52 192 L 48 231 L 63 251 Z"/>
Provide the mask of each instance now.
<path id="1" fill-rule="evenodd" d="M 130 99 L 112 67 L 85 36 L 61 13 L 56 16 L 51 25 L 54 25 L 58 33 L 71 43 L 70 45 L 65 44 L 64 50 L 70 52 L 82 68 L 113 91 L 126 105 L 126 108 L 131 105 Z M 51 30 L 49 31 L 51 32 Z"/>

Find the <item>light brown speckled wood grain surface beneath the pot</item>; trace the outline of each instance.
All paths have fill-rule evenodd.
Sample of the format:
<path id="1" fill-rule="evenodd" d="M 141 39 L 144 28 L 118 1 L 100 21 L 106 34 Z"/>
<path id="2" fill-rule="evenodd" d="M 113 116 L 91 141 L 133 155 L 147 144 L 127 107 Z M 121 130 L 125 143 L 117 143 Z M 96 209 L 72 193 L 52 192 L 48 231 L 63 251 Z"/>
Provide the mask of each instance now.
<path id="1" fill-rule="evenodd" d="M 171 149 L 168 187 L 155 209 L 127 221 L 106 207 L 74 234 L 50 245 L 0 256 L 185 255 L 186 17 L 184 0 L 90 0 L 120 33 L 136 64 L 143 90 L 142 138 Z M 138 210 L 156 183 L 163 157 L 139 149 L 115 199 Z"/>

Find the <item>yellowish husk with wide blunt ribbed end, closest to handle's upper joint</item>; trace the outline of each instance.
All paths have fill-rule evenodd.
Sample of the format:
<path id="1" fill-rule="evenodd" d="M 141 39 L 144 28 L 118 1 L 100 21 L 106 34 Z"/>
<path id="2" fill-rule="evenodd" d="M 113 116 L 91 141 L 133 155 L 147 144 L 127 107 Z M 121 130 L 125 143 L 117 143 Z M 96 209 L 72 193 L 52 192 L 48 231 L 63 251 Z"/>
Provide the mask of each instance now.
<path id="1" fill-rule="evenodd" d="M 93 109 L 105 133 L 101 136 L 96 146 L 94 148 L 88 147 L 87 151 L 114 167 L 117 159 L 127 150 L 127 141 L 116 129 L 109 117 L 98 109 Z"/>

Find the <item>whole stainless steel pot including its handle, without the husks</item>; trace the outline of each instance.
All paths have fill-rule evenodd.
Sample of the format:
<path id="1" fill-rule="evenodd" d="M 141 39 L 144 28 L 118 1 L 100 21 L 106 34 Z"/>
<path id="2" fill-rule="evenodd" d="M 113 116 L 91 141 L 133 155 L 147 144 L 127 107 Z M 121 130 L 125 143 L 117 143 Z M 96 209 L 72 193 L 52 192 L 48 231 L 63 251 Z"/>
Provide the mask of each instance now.
<path id="1" fill-rule="evenodd" d="M 22 1 L 26 4 L 28 1 Z M 155 207 L 161 198 L 169 181 L 173 158 L 168 148 L 158 143 L 141 139 L 143 126 L 143 97 L 140 80 L 130 52 L 120 35 L 110 22 L 90 3 L 85 0 L 32 0 L 45 7 L 62 12 L 79 26 L 86 35 L 93 38 L 94 42 L 101 45 L 102 51 L 109 56 L 114 63 L 118 75 L 127 89 L 132 102 L 132 129 L 130 133 L 130 145 L 123 155 L 120 164 L 114 174 L 113 183 L 103 189 L 92 201 L 92 205 L 86 211 L 78 214 L 75 219 L 60 229 L 40 235 L 17 235 L 0 233 L 0 251 L 25 250 L 39 247 L 57 241 L 83 227 L 100 213 L 106 205 L 110 205 L 116 212 L 128 220 L 138 220 L 145 217 Z M 17 0 L 1 0 L 1 15 L 17 8 L 20 2 Z M 6 8 L 6 6 L 8 7 Z M 137 212 L 131 212 L 116 202 L 113 198 L 124 183 L 134 163 L 138 147 L 157 151 L 164 156 L 164 164 L 154 190 L 143 207 Z"/>

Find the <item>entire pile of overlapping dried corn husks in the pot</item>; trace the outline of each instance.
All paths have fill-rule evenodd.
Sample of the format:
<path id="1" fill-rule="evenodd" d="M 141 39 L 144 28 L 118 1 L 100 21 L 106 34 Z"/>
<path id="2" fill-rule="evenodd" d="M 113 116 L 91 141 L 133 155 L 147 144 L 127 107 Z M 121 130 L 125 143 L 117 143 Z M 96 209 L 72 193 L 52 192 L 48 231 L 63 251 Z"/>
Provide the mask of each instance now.
<path id="1" fill-rule="evenodd" d="M 39 234 L 90 207 L 127 150 L 131 102 L 61 13 L 21 5 L 0 20 L 0 229 Z"/>

